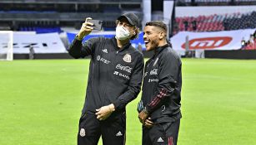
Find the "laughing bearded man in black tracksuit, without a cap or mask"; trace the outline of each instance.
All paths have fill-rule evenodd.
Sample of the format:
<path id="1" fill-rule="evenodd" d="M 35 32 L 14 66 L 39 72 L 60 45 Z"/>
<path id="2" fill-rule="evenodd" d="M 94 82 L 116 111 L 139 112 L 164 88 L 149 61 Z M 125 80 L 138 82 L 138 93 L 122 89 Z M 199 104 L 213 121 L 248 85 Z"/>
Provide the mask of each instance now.
<path id="1" fill-rule="evenodd" d="M 143 123 L 143 145 L 176 145 L 181 118 L 182 62 L 167 41 L 163 22 L 147 22 L 143 40 L 154 51 L 144 69 L 138 118 Z"/>

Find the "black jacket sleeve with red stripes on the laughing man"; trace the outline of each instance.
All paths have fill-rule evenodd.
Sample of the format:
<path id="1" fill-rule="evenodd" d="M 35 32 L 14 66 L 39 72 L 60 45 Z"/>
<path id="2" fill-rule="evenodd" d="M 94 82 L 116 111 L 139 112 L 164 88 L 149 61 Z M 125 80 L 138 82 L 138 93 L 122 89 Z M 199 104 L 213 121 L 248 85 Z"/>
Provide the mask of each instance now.
<path id="1" fill-rule="evenodd" d="M 152 101 L 146 104 L 145 107 L 148 114 L 158 109 L 165 102 L 166 98 L 173 95 L 180 68 L 181 61 L 178 56 L 163 56 L 163 59 L 159 62 L 158 86 L 156 92 L 153 95 Z"/>

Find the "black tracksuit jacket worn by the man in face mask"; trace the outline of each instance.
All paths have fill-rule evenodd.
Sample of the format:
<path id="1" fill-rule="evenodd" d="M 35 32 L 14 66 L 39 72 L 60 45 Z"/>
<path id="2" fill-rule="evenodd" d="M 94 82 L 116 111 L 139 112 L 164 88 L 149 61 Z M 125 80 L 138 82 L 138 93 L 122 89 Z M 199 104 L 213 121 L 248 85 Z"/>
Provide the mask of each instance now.
<path id="1" fill-rule="evenodd" d="M 113 38 L 94 37 L 86 43 L 77 39 L 68 48 L 74 58 L 91 56 L 83 113 L 114 104 L 110 118 L 123 114 L 125 106 L 138 96 L 143 80 L 143 54 L 130 43 L 118 48 Z"/>

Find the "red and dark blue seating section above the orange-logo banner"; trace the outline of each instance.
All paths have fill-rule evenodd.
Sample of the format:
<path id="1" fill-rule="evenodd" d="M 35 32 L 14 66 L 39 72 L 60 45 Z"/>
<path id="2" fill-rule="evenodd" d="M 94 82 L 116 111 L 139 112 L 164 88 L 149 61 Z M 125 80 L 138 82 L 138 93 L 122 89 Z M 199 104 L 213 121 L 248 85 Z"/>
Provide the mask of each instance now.
<path id="1" fill-rule="evenodd" d="M 256 12 L 224 15 L 176 17 L 173 34 L 178 31 L 224 31 L 256 27 Z"/>

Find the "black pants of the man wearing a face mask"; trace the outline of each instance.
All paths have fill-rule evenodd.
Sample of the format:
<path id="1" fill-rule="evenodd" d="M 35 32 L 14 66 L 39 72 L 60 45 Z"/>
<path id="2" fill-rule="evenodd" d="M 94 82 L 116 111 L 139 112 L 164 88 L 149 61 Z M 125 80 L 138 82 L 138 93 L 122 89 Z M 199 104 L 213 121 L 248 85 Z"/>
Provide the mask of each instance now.
<path id="1" fill-rule="evenodd" d="M 103 145 L 125 144 L 125 120 L 125 113 L 103 121 L 99 121 L 95 114 L 83 114 L 79 121 L 78 145 L 97 145 L 100 136 Z"/>

